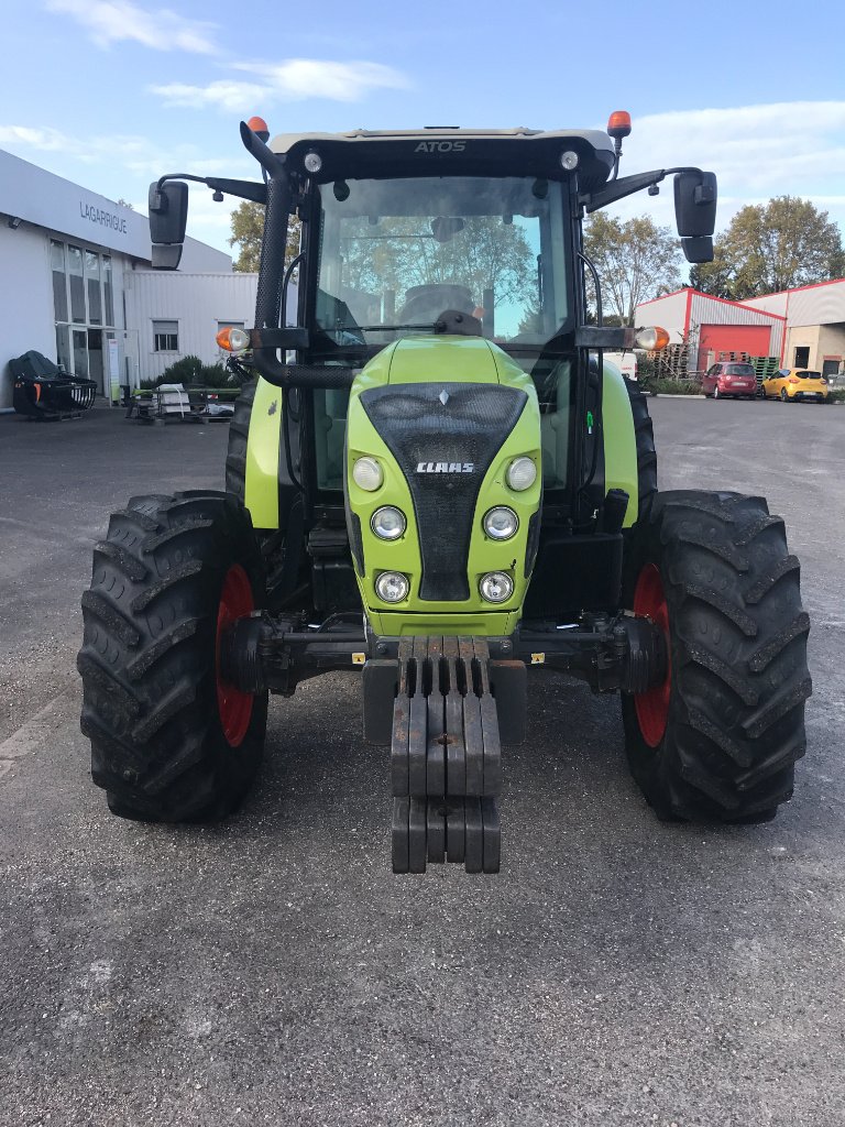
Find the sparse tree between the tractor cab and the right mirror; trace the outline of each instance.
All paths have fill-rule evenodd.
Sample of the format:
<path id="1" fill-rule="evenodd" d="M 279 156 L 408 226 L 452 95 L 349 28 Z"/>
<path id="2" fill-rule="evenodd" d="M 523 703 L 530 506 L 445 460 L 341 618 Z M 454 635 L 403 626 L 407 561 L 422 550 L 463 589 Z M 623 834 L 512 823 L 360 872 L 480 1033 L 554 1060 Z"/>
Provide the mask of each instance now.
<path id="1" fill-rule="evenodd" d="M 620 222 L 607 215 L 590 219 L 584 234 L 585 250 L 602 282 L 604 312 L 633 325 L 637 307 L 681 284 L 678 240 L 648 215 Z"/>

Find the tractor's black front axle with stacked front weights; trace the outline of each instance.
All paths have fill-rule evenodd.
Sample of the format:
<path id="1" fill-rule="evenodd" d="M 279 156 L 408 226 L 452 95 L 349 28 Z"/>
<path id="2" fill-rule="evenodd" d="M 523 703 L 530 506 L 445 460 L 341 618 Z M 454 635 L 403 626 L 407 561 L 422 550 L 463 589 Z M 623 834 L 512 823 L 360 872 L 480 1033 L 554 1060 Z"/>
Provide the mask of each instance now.
<path id="1" fill-rule="evenodd" d="M 527 665 L 594 692 L 641 693 L 665 680 L 666 662 L 661 631 L 628 614 L 484 639 L 306 631 L 260 612 L 221 638 L 221 673 L 247 693 L 290 695 L 300 681 L 363 665 L 364 735 L 391 747 L 394 872 L 446 860 L 498 872 L 500 747 L 524 737 Z"/>

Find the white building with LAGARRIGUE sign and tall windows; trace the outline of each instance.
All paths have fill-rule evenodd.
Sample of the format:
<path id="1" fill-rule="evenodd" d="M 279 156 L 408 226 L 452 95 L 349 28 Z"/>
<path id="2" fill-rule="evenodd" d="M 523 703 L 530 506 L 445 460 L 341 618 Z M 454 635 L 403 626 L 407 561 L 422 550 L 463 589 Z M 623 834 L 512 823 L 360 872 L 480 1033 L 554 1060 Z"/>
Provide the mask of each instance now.
<path id="1" fill-rule="evenodd" d="M 195 239 L 178 272 L 152 272 L 144 215 L 0 151 L 0 299 L 2 410 L 29 349 L 113 397 L 180 356 L 214 363 L 219 325 L 252 323 L 256 275 Z"/>

